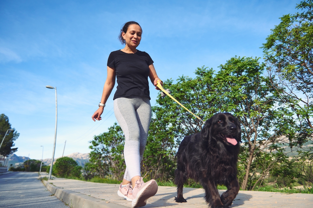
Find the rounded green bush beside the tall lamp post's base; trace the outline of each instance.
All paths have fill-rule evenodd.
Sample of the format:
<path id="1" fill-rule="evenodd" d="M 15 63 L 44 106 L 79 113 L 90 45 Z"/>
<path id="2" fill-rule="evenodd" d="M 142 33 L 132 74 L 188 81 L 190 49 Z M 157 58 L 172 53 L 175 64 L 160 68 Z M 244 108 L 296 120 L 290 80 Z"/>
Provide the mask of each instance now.
<path id="1" fill-rule="evenodd" d="M 53 165 L 52 175 L 57 177 L 74 176 L 80 177 L 82 169 L 77 162 L 70 157 L 61 157 L 57 159 Z"/>

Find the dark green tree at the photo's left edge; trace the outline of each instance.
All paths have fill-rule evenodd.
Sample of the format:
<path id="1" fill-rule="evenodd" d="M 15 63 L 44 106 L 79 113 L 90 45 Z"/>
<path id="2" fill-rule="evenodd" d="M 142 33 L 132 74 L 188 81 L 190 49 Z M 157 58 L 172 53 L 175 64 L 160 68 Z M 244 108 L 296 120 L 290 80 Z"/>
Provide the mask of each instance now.
<path id="1" fill-rule="evenodd" d="M 0 114 L 0 143 L 3 140 L 3 137 L 8 129 L 12 129 L 11 124 L 9 123 L 9 118 L 5 114 Z M 14 129 L 14 128 L 13 128 Z M 8 156 L 18 150 L 18 148 L 12 148 L 15 144 L 14 141 L 18 138 L 19 133 L 17 131 L 8 131 L 8 134 L 3 140 L 0 155 Z"/>

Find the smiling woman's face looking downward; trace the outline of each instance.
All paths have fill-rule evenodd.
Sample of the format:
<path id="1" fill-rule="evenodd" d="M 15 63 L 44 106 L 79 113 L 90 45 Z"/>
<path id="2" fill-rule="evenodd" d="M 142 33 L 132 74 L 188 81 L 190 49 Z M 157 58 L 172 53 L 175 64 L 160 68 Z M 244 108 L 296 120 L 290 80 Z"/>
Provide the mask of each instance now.
<path id="1" fill-rule="evenodd" d="M 136 24 L 131 24 L 126 33 L 122 32 L 122 37 L 125 39 L 125 43 L 130 48 L 136 48 L 141 40 L 141 27 Z"/>

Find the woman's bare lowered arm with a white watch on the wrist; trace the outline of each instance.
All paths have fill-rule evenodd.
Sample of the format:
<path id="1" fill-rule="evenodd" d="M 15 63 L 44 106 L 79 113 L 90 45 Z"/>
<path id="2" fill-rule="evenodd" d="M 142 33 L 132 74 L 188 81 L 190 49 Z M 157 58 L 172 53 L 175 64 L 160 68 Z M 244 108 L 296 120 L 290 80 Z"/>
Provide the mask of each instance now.
<path id="1" fill-rule="evenodd" d="M 107 75 L 106 80 L 105 80 L 105 84 L 104 84 L 103 92 L 102 92 L 102 97 L 101 97 L 101 103 L 103 103 L 103 104 L 106 103 L 106 101 L 108 100 L 108 98 L 112 92 L 112 89 L 114 88 L 115 77 L 116 77 L 114 68 L 107 67 L 107 71 L 108 71 L 108 75 Z M 96 110 L 96 112 L 91 116 L 92 120 L 100 121 L 101 120 L 101 114 L 103 113 L 103 109 L 104 109 L 104 107 L 100 106 L 99 109 Z"/>

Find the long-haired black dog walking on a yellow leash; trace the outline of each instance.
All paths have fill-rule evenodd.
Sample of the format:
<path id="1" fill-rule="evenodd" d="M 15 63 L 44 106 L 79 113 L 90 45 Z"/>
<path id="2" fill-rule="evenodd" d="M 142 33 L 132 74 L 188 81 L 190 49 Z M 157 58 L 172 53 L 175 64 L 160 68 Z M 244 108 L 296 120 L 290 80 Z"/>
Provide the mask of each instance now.
<path id="1" fill-rule="evenodd" d="M 176 202 L 187 202 L 182 188 L 188 178 L 199 181 L 212 208 L 230 206 L 239 191 L 237 160 L 241 142 L 239 121 L 230 113 L 218 113 L 205 122 L 198 134 L 186 136 L 177 152 Z M 226 185 L 221 196 L 216 186 Z"/>

